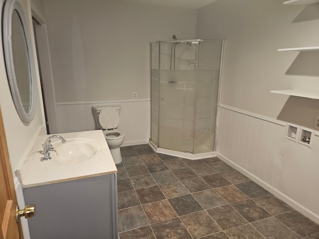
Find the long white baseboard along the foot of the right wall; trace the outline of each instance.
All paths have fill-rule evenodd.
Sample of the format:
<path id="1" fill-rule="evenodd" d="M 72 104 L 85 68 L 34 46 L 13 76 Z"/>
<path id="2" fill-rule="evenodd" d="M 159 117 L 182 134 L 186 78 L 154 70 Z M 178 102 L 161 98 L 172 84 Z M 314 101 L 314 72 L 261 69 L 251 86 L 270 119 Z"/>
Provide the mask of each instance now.
<path id="1" fill-rule="evenodd" d="M 301 205 L 300 203 L 296 202 L 295 200 L 293 200 L 292 198 L 288 197 L 287 195 L 283 194 L 282 192 L 280 192 L 278 189 L 272 187 L 271 185 L 269 185 L 268 183 L 266 183 L 265 181 L 261 180 L 260 178 L 256 177 L 254 174 L 248 172 L 246 169 L 242 168 L 241 166 L 239 166 L 238 164 L 234 163 L 233 161 L 231 161 L 230 159 L 224 157 L 222 154 L 217 152 L 217 157 L 219 157 L 221 160 L 223 160 L 224 162 L 226 162 L 227 164 L 229 164 L 230 166 L 232 166 L 234 169 L 236 169 L 237 171 L 241 172 L 242 174 L 244 174 L 246 177 L 250 178 L 252 181 L 254 181 L 255 183 L 257 183 L 258 185 L 260 185 L 261 187 L 265 188 L 267 191 L 269 191 L 270 193 L 272 193 L 273 195 L 275 195 L 277 198 L 281 199 L 282 201 L 284 201 L 285 203 L 287 203 L 289 206 L 291 206 L 292 208 L 296 209 L 298 212 L 300 212 L 301 214 L 305 215 L 306 217 L 310 218 L 311 220 L 313 220 L 314 222 L 316 222 L 317 224 L 319 224 L 319 215 L 315 214 L 314 212 L 312 212 L 311 210 L 307 209 L 306 207 L 304 207 L 303 205 Z"/>

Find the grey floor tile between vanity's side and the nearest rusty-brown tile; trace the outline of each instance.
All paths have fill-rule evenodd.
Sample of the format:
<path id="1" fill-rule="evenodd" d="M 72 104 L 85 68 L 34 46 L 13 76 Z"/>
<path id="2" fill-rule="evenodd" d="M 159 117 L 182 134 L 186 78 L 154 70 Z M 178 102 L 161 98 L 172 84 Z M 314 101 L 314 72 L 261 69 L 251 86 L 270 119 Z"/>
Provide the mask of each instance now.
<path id="1" fill-rule="evenodd" d="M 118 211 L 119 233 L 149 225 L 142 206 L 126 208 Z"/>

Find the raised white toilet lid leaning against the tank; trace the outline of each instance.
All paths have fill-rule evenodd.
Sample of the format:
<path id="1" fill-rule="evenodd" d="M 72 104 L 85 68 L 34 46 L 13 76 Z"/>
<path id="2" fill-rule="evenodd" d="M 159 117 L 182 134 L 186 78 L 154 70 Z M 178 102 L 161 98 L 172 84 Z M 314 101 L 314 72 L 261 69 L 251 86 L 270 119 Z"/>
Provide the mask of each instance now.
<path id="1" fill-rule="evenodd" d="M 99 123 L 105 129 L 117 128 L 120 122 L 119 113 L 114 107 L 104 107 L 99 114 Z"/>

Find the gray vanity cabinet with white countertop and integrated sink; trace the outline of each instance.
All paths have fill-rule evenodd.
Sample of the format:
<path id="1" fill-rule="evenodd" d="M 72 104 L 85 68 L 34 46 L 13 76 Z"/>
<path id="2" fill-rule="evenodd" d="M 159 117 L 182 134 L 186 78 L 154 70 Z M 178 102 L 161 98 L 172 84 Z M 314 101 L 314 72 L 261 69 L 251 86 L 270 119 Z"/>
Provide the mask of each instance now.
<path id="1" fill-rule="evenodd" d="M 59 135 L 51 160 L 41 161 L 50 135 L 38 136 L 17 172 L 35 205 L 31 239 L 117 239 L 117 168 L 102 130 Z"/>

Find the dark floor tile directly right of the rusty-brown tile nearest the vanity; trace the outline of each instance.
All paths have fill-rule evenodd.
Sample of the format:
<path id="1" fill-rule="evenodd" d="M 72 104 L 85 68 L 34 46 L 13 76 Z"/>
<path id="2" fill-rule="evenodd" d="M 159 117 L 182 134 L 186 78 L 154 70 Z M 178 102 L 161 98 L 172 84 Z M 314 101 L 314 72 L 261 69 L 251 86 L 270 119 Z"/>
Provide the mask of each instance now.
<path id="1" fill-rule="evenodd" d="M 203 210 L 196 199 L 194 199 L 194 197 L 190 194 L 176 198 L 170 198 L 168 199 L 168 201 L 178 216 L 183 216 Z"/>

